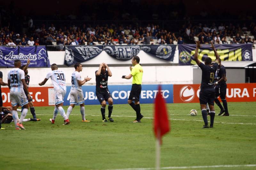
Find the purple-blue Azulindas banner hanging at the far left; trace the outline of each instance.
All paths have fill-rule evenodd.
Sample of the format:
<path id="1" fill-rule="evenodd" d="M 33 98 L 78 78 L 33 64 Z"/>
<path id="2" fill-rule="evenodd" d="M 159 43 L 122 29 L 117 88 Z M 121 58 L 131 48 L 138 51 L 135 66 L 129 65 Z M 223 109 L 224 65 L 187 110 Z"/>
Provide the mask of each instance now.
<path id="1" fill-rule="evenodd" d="M 0 66 L 13 67 L 14 60 L 17 59 L 21 61 L 21 65 L 27 64 L 29 59 L 29 67 L 50 67 L 45 46 L 0 46 Z"/>

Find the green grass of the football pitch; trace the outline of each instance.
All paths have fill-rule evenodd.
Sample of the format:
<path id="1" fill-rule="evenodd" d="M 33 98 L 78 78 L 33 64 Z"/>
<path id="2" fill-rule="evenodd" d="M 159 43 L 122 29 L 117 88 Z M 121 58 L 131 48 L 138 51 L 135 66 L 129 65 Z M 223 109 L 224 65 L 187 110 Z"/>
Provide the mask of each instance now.
<path id="1" fill-rule="evenodd" d="M 220 109 L 215 106 L 214 128 L 201 129 L 204 123 L 198 103 L 168 104 L 172 130 L 163 137 L 161 167 L 256 164 L 256 102 L 229 102 L 228 106 L 231 116 L 218 116 Z M 86 118 L 91 122 L 81 122 L 76 106 L 66 126 L 60 115 L 55 124 L 49 122 L 53 107 L 36 107 L 42 121 L 24 122 L 26 130 L 15 130 L 13 123 L 2 125 L 6 130 L 0 131 L 0 169 L 153 168 L 153 107 L 141 104 L 142 123 L 132 123 L 132 108 L 128 104 L 114 105 L 114 122 L 102 123 L 100 105 L 85 106 Z M 198 115 L 190 116 L 191 109 L 196 109 Z"/>

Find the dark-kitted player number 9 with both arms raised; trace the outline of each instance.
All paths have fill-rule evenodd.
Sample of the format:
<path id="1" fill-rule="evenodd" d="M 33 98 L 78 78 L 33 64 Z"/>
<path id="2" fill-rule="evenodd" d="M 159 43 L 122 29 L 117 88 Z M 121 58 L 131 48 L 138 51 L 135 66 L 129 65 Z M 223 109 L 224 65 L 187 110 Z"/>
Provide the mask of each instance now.
<path id="1" fill-rule="evenodd" d="M 198 60 L 198 49 L 201 47 L 200 41 L 196 41 L 196 51 L 195 51 L 195 61 L 196 64 L 202 70 L 202 81 L 201 81 L 201 90 L 199 92 L 199 101 L 202 111 L 202 116 L 204 119 L 204 126 L 203 128 L 209 128 L 208 120 L 207 120 L 207 111 L 206 111 L 206 104 L 209 104 L 210 108 L 210 128 L 213 128 L 213 122 L 215 117 L 215 110 L 214 110 L 214 74 L 218 68 L 219 62 L 218 59 L 220 58 L 216 50 L 215 53 L 215 63 L 211 65 L 212 59 L 210 57 L 206 57 L 204 59 L 204 64 Z M 212 44 L 213 47 L 213 44 Z"/>

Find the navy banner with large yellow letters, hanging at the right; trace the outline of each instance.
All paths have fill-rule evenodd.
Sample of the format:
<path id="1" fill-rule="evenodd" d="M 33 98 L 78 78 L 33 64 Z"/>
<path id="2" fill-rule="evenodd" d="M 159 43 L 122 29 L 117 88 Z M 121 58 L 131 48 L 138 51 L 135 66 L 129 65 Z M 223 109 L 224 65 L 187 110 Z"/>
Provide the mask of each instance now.
<path id="1" fill-rule="evenodd" d="M 203 44 L 198 50 L 198 59 L 204 61 L 206 57 L 215 59 L 210 44 Z M 216 44 L 214 45 L 221 61 L 252 61 L 252 44 Z M 195 65 L 196 44 L 182 44 L 179 48 L 179 65 Z"/>

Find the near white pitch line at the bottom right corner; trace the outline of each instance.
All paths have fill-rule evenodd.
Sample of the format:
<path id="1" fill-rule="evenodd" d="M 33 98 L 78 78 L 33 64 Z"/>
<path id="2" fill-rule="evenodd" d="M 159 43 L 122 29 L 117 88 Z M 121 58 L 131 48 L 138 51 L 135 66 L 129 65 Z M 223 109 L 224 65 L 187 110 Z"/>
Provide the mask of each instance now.
<path id="1" fill-rule="evenodd" d="M 170 166 L 162 167 L 160 169 L 195 169 L 195 168 L 219 168 L 219 167 L 253 167 L 255 164 L 249 165 L 212 165 L 212 166 Z M 106 170 L 151 170 L 156 168 L 125 168 L 125 169 L 106 169 Z"/>

